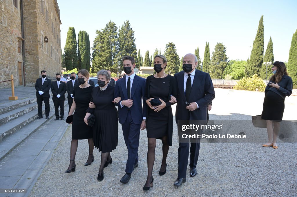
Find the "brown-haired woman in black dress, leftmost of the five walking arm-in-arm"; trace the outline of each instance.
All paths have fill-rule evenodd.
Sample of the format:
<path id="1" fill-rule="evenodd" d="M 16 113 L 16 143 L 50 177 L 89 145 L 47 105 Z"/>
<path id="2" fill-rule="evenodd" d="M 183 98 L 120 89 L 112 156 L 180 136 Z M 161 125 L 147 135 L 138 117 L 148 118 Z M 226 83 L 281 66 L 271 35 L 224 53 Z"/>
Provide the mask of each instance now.
<path id="1" fill-rule="evenodd" d="M 78 140 L 88 139 L 89 142 L 89 157 L 85 166 L 91 165 L 94 161 L 94 142 L 92 128 L 87 126 L 83 121 L 83 118 L 86 116 L 86 110 L 89 107 L 89 102 L 91 100 L 91 91 L 94 86 L 88 84 L 89 72 L 87 70 L 79 70 L 77 74 L 80 86 L 75 86 L 73 89 L 72 96 L 74 97 L 74 99 L 68 114 L 68 116 L 70 116 L 74 112 L 70 146 L 70 164 L 65 173 L 75 172 L 74 159 L 78 147 Z"/>

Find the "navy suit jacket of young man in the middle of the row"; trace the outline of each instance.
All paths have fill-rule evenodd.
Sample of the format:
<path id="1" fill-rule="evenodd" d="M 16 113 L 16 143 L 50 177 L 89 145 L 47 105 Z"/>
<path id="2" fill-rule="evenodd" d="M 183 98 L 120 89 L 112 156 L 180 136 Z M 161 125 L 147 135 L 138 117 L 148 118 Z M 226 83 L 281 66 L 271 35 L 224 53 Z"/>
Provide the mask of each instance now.
<path id="1" fill-rule="evenodd" d="M 130 108 L 132 120 L 135 124 L 141 124 L 142 118 L 146 117 L 147 114 L 147 105 L 145 100 L 145 91 L 146 91 L 146 79 L 137 76 L 133 79 L 132 88 L 131 88 L 131 98 L 133 100 L 133 105 Z M 114 89 L 114 97 L 121 97 L 121 100 L 127 100 L 127 86 L 126 78 L 123 77 L 116 82 L 116 87 Z M 142 100 L 141 100 L 142 97 Z M 143 107 L 142 107 L 142 103 Z M 120 102 L 116 103 L 119 107 L 119 122 L 124 124 L 128 115 L 128 107 L 123 106 L 121 108 Z"/>

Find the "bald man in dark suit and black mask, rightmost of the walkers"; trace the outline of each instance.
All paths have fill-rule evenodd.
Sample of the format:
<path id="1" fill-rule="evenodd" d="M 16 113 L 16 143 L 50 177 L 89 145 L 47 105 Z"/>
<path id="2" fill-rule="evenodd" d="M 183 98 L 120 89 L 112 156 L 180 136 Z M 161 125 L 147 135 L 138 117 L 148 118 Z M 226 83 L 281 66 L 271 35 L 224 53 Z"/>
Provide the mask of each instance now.
<path id="1" fill-rule="evenodd" d="M 206 120 L 206 105 L 214 95 L 214 86 L 208 73 L 196 69 L 198 64 L 194 54 L 187 54 L 183 59 L 183 71 L 176 73 L 177 98 L 171 97 L 171 102 L 176 102 L 176 123 L 178 120 Z M 197 174 L 196 166 L 199 156 L 200 142 L 180 142 L 178 148 L 178 177 L 174 186 L 186 182 L 187 165 L 190 149 L 190 177 Z"/>

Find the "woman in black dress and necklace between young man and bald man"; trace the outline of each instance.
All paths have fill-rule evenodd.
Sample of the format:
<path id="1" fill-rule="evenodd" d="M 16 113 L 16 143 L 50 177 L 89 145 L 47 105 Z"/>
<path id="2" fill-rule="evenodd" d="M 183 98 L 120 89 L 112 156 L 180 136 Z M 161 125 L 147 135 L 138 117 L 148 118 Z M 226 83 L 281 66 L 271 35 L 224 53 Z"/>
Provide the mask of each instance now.
<path id="1" fill-rule="evenodd" d="M 166 158 L 169 146 L 172 146 L 173 115 L 170 103 L 170 96 L 176 96 L 176 80 L 173 76 L 165 73 L 167 59 L 163 55 L 154 57 L 154 70 L 156 74 L 148 76 L 146 79 L 146 103 L 149 106 L 148 116 L 146 116 L 146 131 L 148 137 L 148 176 L 143 190 L 149 190 L 153 186 L 152 176 L 156 139 L 162 140 L 162 164 L 159 175 L 166 173 Z M 159 104 L 158 104 L 159 102 Z"/>

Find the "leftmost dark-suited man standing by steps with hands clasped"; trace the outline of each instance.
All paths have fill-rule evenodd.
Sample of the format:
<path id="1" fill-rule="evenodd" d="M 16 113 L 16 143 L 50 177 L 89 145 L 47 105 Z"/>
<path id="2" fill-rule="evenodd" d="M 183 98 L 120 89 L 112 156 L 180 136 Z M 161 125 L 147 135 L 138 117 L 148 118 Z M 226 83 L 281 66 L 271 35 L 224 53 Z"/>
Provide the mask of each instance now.
<path id="1" fill-rule="evenodd" d="M 46 71 L 41 71 L 41 78 L 36 79 L 35 89 L 38 106 L 38 117 L 42 118 L 42 101 L 45 105 L 45 118 L 48 119 L 50 115 L 50 79 L 46 78 Z"/>

